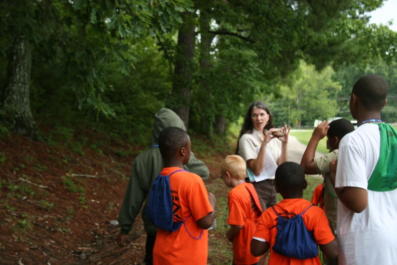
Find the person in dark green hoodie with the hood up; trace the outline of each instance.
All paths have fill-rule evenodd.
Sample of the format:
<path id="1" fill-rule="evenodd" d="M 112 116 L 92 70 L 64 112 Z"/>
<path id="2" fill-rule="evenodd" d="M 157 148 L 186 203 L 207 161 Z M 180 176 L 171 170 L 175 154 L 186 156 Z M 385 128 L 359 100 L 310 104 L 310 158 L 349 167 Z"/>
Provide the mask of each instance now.
<path id="1" fill-rule="evenodd" d="M 132 224 L 138 215 L 143 202 L 142 218 L 145 231 L 148 234 L 146 240 L 145 262 L 147 265 L 153 264 L 153 247 L 156 240 L 157 227 L 155 227 L 146 217 L 146 207 L 148 206 L 149 191 L 152 182 L 164 168 L 163 159 L 158 147 L 160 132 L 167 127 L 178 127 L 186 130 L 184 122 L 172 110 L 162 108 L 156 115 L 153 122 L 151 147 L 140 153 L 132 164 L 131 178 L 124 195 L 123 205 L 121 206 L 118 222 L 121 230 L 117 236 L 117 243 L 125 246 L 125 238 L 132 229 Z M 199 175 L 203 180 L 209 177 L 209 171 L 204 162 L 198 160 L 193 152 L 188 164 L 184 165 L 185 170 Z"/>

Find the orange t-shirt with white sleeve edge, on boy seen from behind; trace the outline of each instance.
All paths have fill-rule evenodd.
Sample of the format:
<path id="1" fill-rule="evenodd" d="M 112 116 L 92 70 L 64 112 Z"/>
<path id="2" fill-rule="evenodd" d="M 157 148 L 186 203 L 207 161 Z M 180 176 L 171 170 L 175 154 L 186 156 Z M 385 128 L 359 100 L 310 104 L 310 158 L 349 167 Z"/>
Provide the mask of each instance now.
<path id="1" fill-rule="evenodd" d="M 307 207 L 312 205 L 303 198 L 284 199 L 274 206 L 274 210 L 283 218 L 289 219 L 297 216 L 305 211 Z M 303 215 L 303 221 L 309 231 L 313 231 L 313 235 L 317 244 L 328 244 L 335 239 L 332 234 L 328 219 L 323 210 L 319 207 L 310 207 Z M 308 259 L 298 259 L 282 256 L 273 251 L 272 247 L 276 242 L 277 235 L 277 215 L 272 208 L 266 209 L 259 219 L 254 239 L 266 241 L 270 243 L 270 259 L 269 264 L 277 265 L 321 265 L 317 257 Z"/>

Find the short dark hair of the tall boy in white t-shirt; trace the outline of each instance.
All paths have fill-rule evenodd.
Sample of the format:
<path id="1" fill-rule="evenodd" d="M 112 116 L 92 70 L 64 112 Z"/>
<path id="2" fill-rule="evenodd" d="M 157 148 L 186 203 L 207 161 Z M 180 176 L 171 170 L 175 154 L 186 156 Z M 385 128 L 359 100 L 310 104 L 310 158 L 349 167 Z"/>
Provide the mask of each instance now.
<path id="1" fill-rule="evenodd" d="M 389 85 L 378 75 L 366 75 L 358 79 L 351 91 L 368 111 L 381 111 L 386 100 Z"/>

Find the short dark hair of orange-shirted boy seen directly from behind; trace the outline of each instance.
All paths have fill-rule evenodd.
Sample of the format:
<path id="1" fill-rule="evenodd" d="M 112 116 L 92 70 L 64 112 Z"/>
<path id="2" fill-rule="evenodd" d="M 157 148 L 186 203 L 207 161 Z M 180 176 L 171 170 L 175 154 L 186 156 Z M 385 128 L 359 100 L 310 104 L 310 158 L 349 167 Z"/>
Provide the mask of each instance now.
<path id="1" fill-rule="evenodd" d="M 275 181 L 279 190 L 303 190 L 305 183 L 305 171 L 298 163 L 283 162 L 276 170 Z"/>

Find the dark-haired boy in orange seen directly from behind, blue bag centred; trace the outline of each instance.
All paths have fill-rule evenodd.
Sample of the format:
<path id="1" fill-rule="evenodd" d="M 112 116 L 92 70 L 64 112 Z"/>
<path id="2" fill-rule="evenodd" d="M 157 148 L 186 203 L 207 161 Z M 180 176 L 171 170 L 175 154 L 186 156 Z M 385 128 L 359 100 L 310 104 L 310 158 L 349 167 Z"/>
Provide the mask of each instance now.
<path id="1" fill-rule="evenodd" d="M 251 241 L 252 255 L 261 256 L 271 248 L 269 264 L 321 264 L 316 246 L 314 247 L 317 255 L 306 259 L 284 256 L 274 251 L 274 246 L 280 243 L 277 241 L 281 241 L 286 245 L 291 244 L 289 241 L 285 242 L 281 237 L 278 237 L 276 241 L 280 217 L 285 220 L 295 218 L 294 221 L 298 221 L 297 218 L 302 218 L 307 233 L 312 235 L 312 241 L 314 241 L 312 244 L 318 244 L 322 253 L 329 258 L 334 258 L 338 255 L 339 242 L 333 234 L 333 229 L 330 227 L 331 224 L 326 214 L 320 208 L 303 199 L 303 190 L 306 187 L 305 172 L 301 165 L 294 162 L 284 162 L 279 165 L 275 175 L 275 188 L 281 194 L 283 200 L 274 207 L 267 209 L 259 219 L 257 230 Z M 282 234 L 280 233 L 280 235 Z M 301 243 L 299 241 L 301 237 L 298 235 L 294 237 L 294 235 L 288 236 L 291 236 L 291 239 L 298 238 L 296 242 Z M 299 247 L 302 248 L 302 246 L 298 245 L 298 250 Z M 305 251 L 305 249 L 301 251 Z"/>

